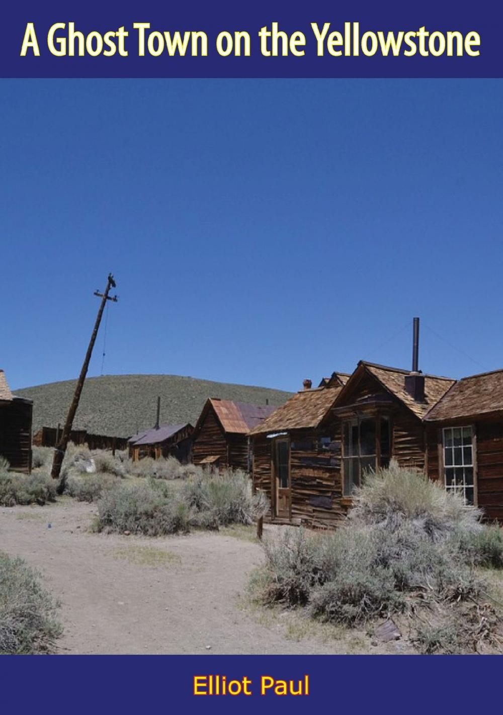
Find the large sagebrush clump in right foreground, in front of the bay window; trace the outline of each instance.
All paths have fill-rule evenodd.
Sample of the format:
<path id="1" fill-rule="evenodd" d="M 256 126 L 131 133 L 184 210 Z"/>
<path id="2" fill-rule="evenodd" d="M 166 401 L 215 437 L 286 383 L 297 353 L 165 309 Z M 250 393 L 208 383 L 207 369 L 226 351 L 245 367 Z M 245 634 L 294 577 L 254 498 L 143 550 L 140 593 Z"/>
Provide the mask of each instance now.
<path id="1" fill-rule="evenodd" d="M 473 567 L 501 568 L 503 543 L 501 530 L 482 526 L 479 516 L 424 475 L 392 464 L 366 478 L 336 532 L 290 528 L 265 542 L 265 566 L 251 586 L 263 603 L 306 606 L 313 617 L 347 626 L 407 611 L 421 652 L 479 649 L 497 641 L 497 617 Z M 419 618 L 426 611 L 437 636 Z"/>

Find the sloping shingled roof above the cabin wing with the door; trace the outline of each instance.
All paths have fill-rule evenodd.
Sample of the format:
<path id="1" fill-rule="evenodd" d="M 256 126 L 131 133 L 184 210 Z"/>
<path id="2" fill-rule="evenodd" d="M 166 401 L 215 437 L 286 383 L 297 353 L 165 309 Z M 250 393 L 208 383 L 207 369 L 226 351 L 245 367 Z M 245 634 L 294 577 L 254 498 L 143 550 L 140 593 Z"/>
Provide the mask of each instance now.
<path id="1" fill-rule="evenodd" d="M 302 390 L 293 395 L 293 398 L 290 398 L 287 403 L 278 407 L 250 434 L 260 435 L 268 432 L 316 428 L 336 401 L 341 389 L 339 386 L 338 388 Z"/>

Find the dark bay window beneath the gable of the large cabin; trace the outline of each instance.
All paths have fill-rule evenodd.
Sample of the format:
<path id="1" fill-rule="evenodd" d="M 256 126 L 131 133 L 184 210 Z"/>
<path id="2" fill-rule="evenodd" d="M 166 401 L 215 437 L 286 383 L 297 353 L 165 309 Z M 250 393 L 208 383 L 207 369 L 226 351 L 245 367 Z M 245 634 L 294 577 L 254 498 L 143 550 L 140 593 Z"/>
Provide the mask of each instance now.
<path id="1" fill-rule="evenodd" d="M 357 417 L 343 423 L 343 494 L 350 496 L 368 470 L 387 467 L 391 454 L 388 417 Z"/>

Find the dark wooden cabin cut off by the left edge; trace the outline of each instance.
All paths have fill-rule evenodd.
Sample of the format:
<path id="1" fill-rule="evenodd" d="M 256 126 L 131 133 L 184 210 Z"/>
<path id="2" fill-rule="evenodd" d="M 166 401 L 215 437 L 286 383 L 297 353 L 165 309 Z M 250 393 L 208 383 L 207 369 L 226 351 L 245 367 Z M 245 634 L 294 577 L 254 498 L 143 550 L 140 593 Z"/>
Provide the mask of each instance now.
<path id="1" fill-rule="evenodd" d="M 18 472 L 31 472 L 31 420 L 33 402 L 11 393 L 0 370 L 0 456 Z"/>

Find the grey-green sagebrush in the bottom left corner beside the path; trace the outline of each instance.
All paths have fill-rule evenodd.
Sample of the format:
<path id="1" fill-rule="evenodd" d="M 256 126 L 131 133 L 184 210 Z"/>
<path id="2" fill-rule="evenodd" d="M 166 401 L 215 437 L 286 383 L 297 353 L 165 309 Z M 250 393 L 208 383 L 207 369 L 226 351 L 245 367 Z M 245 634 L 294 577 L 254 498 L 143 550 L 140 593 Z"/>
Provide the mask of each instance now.
<path id="1" fill-rule="evenodd" d="M 0 551 L 0 654 L 52 652 L 62 633 L 56 612 L 38 574 Z"/>

